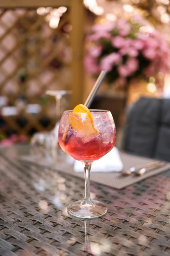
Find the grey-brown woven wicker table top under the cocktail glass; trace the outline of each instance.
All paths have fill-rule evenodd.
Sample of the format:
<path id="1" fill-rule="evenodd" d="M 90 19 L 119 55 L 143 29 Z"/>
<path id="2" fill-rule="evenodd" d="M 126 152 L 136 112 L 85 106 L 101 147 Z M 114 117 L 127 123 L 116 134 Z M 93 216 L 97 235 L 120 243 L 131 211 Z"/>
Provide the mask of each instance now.
<path id="1" fill-rule="evenodd" d="M 83 180 L 17 162 L 24 150 L 0 152 L 0 255 L 170 255 L 170 171 L 121 190 L 91 182 L 108 212 L 73 219 L 66 207 L 82 198 Z"/>

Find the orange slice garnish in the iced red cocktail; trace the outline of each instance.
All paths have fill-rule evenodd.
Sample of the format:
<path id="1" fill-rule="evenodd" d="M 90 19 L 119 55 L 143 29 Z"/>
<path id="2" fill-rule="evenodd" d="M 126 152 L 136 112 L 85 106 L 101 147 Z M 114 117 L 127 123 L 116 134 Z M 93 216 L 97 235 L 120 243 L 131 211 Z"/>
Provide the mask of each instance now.
<path id="1" fill-rule="evenodd" d="M 98 134 L 98 130 L 94 127 L 94 120 L 90 110 L 83 104 L 77 105 L 73 113 L 69 114 L 70 126 L 76 131 L 84 132 L 84 135 Z"/>

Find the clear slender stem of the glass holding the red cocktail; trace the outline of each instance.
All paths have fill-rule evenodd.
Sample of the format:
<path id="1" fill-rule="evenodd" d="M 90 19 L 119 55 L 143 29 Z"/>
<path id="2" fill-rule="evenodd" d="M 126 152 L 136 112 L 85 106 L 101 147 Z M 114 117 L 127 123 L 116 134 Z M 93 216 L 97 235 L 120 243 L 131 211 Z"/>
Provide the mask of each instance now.
<path id="1" fill-rule="evenodd" d="M 85 191 L 84 191 L 84 199 L 82 201 L 82 205 L 92 205 L 92 200 L 90 197 L 90 170 L 92 166 L 92 162 L 82 162 L 84 167 L 84 180 L 85 180 Z"/>

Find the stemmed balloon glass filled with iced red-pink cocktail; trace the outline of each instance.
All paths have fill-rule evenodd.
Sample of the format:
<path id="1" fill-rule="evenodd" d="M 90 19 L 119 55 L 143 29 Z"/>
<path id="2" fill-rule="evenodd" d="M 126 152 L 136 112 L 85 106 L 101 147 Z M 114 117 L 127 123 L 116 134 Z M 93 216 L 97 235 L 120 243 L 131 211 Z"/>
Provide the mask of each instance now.
<path id="1" fill-rule="evenodd" d="M 85 192 L 83 200 L 67 207 L 70 215 L 94 218 L 107 212 L 104 203 L 90 197 L 92 162 L 106 155 L 115 145 L 116 128 L 110 111 L 90 110 L 89 113 L 64 111 L 59 125 L 59 144 L 65 153 L 82 162 Z"/>

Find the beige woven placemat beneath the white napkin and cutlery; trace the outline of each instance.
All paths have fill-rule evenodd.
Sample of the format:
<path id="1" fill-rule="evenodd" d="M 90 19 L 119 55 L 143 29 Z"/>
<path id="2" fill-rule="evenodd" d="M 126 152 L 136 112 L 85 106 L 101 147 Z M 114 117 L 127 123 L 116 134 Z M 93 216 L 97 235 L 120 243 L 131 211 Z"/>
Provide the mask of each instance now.
<path id="1" fill-rule="evenodd" d="M 143 163 L 149 163 L 153 162 L 153 159 L 149 158 L 143 158 L 139 156 L 134 156 L 130 154 L 126 154 L 124 152 L 119 152 L 120 153 L 120 158 L 123 162 L 124 170 L 129 169 L 130 167 L 137 165 L 137 164 L 143 164 Z M 50 163 L 47 161 L 43 161 L 35 159 L 33 156 L 21 156 L 19 158 L 21 161 L 26 161 L 26 162 L 32 162 L 41 166 L 50 166 Z M 113 160 L 114 161 L 114 160 Z M 65 163 L 66 161 L 62 161 L 62 163 L 57 163 L 56 165 L 56 170 L 60 170 L 61 172 L 67 173 L 74 175 L 79 178 L 84 179 L 84 173 L 75 173 L 73 170 L 73 163 Z M 161 173 L 163 171 L 166 171 L 170 169 L 170 163 L 167 163 L 164 167 L 149 171 L 148 173 L 144 174 L 141 177 L 137 177 L 135 175 L 131 176 L 122 176 L 120 172 L 99 172 L 99 173 L 91 173 L 90 180 L 98 182 L 100 184 L 110 186 L 113 188 L 124 188 L 126 186 L 129 186 L 135 182 L 138 182 L 142 179 L 146 179 L 150 176 L 156 175 L 158 173 Z"/>

